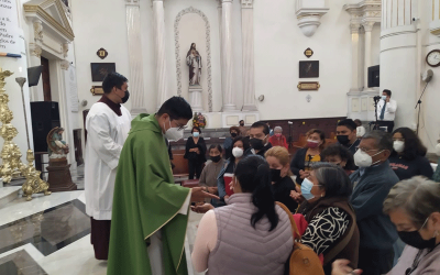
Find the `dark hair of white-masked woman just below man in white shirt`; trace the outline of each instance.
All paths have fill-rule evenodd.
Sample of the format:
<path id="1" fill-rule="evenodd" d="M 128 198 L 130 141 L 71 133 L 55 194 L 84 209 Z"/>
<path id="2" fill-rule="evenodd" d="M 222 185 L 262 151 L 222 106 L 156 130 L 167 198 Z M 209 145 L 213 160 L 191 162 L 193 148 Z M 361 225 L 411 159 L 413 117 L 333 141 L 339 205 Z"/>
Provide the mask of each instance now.
<path id="1" fill-rule="evenodd" d="M 427 147 L 421 143 L 417 134 L 409 128 L 399 128 L 394 130 L 395 133 L 400 133 L 405 139 L 405 148 L 403 152 L 403 157 L 409 161 L 415 160 L 417 156 L 426 156 Z M 397 155 L 397 152 L 393 150 L 392 155 Z"/>

